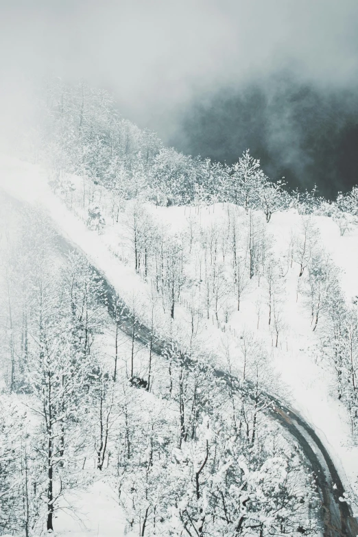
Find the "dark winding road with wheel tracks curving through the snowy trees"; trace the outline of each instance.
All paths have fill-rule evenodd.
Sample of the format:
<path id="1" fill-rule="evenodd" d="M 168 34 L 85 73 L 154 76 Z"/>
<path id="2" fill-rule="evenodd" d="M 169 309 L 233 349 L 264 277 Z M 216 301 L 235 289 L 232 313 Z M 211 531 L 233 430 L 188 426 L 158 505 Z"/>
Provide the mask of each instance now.
<path id="1" fill-rule="evenodd" d="M 1 191 L 1 193 L 14 206 L 17 206 L 17 208 L 21 209 L 23 207 L 23 202 L 19 202 L 19 200 L 13 198 L 5 191 Z M 53 228 L 58 230 L 56 224 L 53 224 Z M 79 246 L 71 243 L 71 241 L 65 239 L 62 235 L 57 235 L 57 246 L 62 254 L 76 250 L 86 256 L 86 253 Z M 128 309 L 123 300 L 117 295 L 114 287 L 108 282 L 106 275 L 102 274 L 93 265 L 92 268 L 97 275 L 98 281 L 101 281 L 104 286 L 104 304 L 108 308 L 108 312 L 114 317 L 115 307 L 119 305 L 120 329 L 132 337 L 134 319 L 130 309 Z M 150 337 L 150 329 L 139 320 L 135 320 L 136 341 L 143 344 L 143 346 L 147 346 L 150 343 Z M 165 359 L 168 357 L 170 348 L 170 344 L 161 339 L 154 339 L 152 342 L 152 352 L 165 357 Z M 189 357 L 183 357 L 183 360 L 185 366 L 191 366 L 193 364 L 193 361 Z M 239 379 L 233 377 L 228 372 L 213 368 L 212 373 L 214 377 L 224 381 L 231 389 L 242 391 L 242 384 L 239 382 Z M 247 387 L 247 393 L 250 396 L 250 384 Z M 357 537 L 357 519 L 353 516 L 350 506 L 346 502 L 339 501 L 339 497 L 342 497 L 344 494 L 342 480 L 339 477 L 337 468 L 333 464 L 331 456 L 318 435 L 297 411 L 287 407 L 287 405 L 281 403 L 276 397 L 266 394 L 265 400 L 270 403 L 266 405 L 265 412 L 279 422 L 283 429 L 296 439 L 300 449 L 311 464 L 322 500 L 322 532 L 324 537 Z"/>

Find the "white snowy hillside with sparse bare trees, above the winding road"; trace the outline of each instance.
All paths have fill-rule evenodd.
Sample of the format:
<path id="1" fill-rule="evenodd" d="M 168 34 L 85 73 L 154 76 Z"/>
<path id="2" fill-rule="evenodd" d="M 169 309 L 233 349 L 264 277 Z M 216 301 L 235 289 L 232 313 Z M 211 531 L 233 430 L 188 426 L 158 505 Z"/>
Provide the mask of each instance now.
<path id="1" fill-rule="evenodd" d="M 295 209 L 276 212 L 267 223 L 259 211 L 229 203 L 163 207 L 122 200 L 114 209 L 112 193 L 90 180 L 85 185 L 79 176 L 63 176 L 53 192 L 48 178 L 45 168 L 1 157 L 1 189 L 45 212 L 142 322 L 243 381 L 252 381 L 256 371 L 261 390 L 300 412 L 331 453 L 347 490 L 354 487 L 354 411 L 345 393 L 337 397 L 327 347 L 339 287 L 347 308 L 358 294 L 357 228 L 341 236 L 330 217 Z M 126 348 L 129 353 L 128 340 Z M 143 361 L 139 368 L 139 377 L 147 374 Z M 90 509 L 98 516 L 88 516 L 88 529 L 112 535 L 104 533 L 102 510 L 108 527 L 124 525 L 125 514 L 110 503 L 99 508 L 104 492 L 93 494 L 85 503 L 94 501 Z M 59 516 L 58 531 L 87 532 Z M 174 518 L 172 529 L 180 525 Z"/>

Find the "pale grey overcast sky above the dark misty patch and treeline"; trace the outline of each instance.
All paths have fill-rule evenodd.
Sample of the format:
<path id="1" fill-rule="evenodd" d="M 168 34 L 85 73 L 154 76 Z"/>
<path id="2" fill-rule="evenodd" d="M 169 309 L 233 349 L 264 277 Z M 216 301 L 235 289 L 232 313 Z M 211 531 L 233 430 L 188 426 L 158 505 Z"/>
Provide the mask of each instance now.
<path id="1" fill-rule="evenodd" d="M 289 69 L 355 88 L 357 0 L 0 0 L 3 102 L 19 81 L 84 77 L 123 115 L 176 139 L 193 102 Z"/>

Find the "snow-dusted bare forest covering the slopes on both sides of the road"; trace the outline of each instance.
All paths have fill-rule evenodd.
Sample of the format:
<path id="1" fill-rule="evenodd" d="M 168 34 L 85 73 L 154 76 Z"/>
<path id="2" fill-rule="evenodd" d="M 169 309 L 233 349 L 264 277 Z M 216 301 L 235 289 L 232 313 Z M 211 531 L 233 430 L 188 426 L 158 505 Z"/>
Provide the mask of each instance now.
<path id="1" fill-rule="evenodd" d="M 84 83 L 49 82 L 40 108 L 36 159 L 52 191 L 88 229 L 117 233 L 112 254 L 147 292 L 128 291 L 125 308 L 109 300 L 42 213 L 2 200 L 0 532 L 56 530 L 69 494 L 101 475 L 140 536 L 316 534 L 312 469 L 265 410 L 295 278 L 356 441 L 357 303 L 314 216 L 348 233 L 357 189 L 327 202 L 270 180 L 248 151 L 231 167 L 179 154 Z M 160 217 L 169 206 L 184 206 L 183 225 Z M 300 227 L 278 250 L 272 215 L 287 209 Z M 237 313 L 252 315 L 250 329 L 235 328 Z M 213 374 L 218 363 L 235 389 Z"/>

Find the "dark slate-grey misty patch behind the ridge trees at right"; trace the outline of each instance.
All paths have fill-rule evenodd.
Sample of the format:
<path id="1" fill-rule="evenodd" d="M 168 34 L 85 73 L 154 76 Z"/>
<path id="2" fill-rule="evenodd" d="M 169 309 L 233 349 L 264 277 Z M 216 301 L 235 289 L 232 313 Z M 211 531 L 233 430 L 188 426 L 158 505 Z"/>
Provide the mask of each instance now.
<path id="1" fill-rule="evenodd" d="M 287 72 L 268 82 L 198 99 L 172 142 L 229 164 L 250 147 L 270 177 L 284 176 L 291 187 L 316 184 L 329 197 L 357 184 L 357 95 L 320 91 Z"/>

